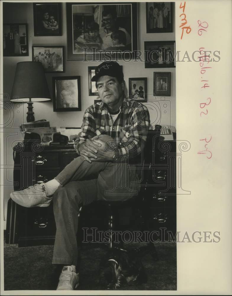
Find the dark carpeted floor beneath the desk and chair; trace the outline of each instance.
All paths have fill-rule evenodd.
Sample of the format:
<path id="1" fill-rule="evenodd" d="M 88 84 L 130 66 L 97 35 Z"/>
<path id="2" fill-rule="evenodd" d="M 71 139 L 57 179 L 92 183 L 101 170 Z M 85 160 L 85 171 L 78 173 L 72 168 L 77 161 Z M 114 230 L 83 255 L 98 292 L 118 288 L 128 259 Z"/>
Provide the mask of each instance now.
<path id="1" fill-rule="evenodd" d="M 129 247 L 138 247 L 132 244 Z M 124 286 L 119 290 L 176 290 L 176 244 L 157 243 L 158 261 L 149 254 L 142 257 L 147 283 Z M 101 290 L 98 266 L 106 250 L 97 246 L 80 249 L 78 290 Z M 18 247 L 4 243 L 4 290 L 56 290 L 60 266 L 52 265 L 53 246 Z"/>

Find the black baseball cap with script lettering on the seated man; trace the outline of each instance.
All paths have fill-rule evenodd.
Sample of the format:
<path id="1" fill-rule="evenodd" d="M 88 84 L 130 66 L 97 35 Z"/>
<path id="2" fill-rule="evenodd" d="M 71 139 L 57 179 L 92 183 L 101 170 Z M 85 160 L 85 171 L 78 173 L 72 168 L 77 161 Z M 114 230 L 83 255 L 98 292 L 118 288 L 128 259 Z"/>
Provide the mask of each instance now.
<path id="1" fill-rule="evenodd" d="M 122 66 L 117 62 L 103 62 L 95 69 L 95 76 L 92 77 L 92 81 L 97 81 L 101 76 L 116 77 L 119 81 L 123 80 L 124 75 L 122 72 Z"/>

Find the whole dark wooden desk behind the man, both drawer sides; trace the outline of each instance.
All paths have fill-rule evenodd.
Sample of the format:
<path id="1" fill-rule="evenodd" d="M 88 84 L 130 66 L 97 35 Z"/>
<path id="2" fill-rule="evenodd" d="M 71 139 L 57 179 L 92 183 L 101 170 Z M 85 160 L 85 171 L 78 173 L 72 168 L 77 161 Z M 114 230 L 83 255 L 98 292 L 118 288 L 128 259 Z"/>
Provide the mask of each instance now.
<path id="1" fill-rule="evenodd" d="M 152 139 L 152 131 L 151 139 Z M 166 141 L 167 151 L 153 153 L 153 164 L 147 164 L 148 179 L 143 179 L 140 194 L 146 204 L 150 230 L 176 232 L 176 141 Z M 152 155 L 152 141 L 147 147 L 147 153 Z M 14 190 L 25 189 L 36 182 L 46 182 L 53 179 L 78 154 L 73 146 L 40 146 L 24 147 L 19 144 L 14 147 Z M 142 167 L 142 165 L 141 165 Z M 171 183 L 170 183 L 171 180 Z M 88 207 L 88 206 L 87 206 Z M 92 210 L 92 212 L 91 212 Z M 104 220 L 104 212 L 96 205 L 90 205 L 83 225 L 97 227 L 93 215 L 98 214 L 99 223 Z M 92 213 L 92 214 L 91 214 Z M 91 215 L 90 215 L 91 214 Z M 83 216 L 83 215 L 82 215 Z M 96 217 L 95 217 L 96 218 Z M 83 219 L 83 217 L 82 217 Z M 95 224 L 94 224 L 95 223 Z M 49 207 L 26 208 L 15 204 L 11 199 L 7 206 L 6 242 L 18 243 L 19 247 L 31 245 L 53 244 L 56 224 L 52 204 Z M 160 232 L 161 234 L 161 232 Z"/>

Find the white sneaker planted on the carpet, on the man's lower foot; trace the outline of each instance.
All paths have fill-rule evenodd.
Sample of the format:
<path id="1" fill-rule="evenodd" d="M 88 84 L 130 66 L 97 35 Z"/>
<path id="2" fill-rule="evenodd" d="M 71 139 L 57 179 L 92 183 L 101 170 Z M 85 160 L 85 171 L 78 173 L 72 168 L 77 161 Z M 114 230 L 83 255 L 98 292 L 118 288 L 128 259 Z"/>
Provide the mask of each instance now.
<path id="1" fill-rule="evenodd" d="M 56 290 L 74 290 L 79 286 L 79 274 L 72 266 L 64 266 Z"/>

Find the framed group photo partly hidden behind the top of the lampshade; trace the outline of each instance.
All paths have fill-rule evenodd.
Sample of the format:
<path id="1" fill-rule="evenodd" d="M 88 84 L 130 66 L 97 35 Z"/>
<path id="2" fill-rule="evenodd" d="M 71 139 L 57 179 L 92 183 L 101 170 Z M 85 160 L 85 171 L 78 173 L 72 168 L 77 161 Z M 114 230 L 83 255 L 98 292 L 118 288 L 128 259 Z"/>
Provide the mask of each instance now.
<path id="1" fill-rule="evenodd" d="M 32 46 L 32 61 L 41 62 L 45 73 L 63 73 L 64 46 Z"/>

